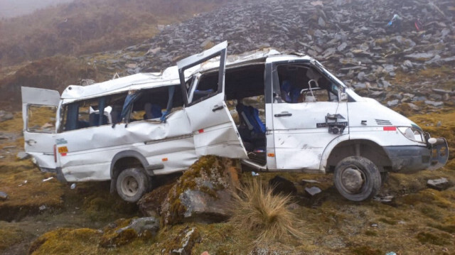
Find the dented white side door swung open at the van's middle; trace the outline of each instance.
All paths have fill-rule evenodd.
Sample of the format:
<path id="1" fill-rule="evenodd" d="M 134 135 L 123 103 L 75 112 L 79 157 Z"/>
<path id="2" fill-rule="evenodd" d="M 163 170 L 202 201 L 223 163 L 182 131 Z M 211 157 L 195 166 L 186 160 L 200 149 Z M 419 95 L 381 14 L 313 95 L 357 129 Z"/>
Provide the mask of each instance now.
<path id="1" fill-rule="evenodd" d="M 227 47 L 227 42 L 220 43 L 177 63 L 185 111 L 190 120 L 198 156 L 247 158 L 240 134 L 224 101 Z M 197 72 L 186 81 L 185 70 L 217 57 L 220 63 L 218 72 Z"/>

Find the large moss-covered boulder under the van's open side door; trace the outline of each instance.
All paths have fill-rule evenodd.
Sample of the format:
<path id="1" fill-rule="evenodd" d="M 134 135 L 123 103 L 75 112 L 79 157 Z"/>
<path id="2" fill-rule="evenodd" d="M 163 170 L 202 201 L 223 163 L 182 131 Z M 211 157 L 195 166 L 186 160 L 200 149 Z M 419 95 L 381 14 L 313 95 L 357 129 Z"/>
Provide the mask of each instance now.
<path id="1" fill-rule="evenodd" d="M 230 201 L 240 183 L 240 161 L 203 156 L 178 178 L 161 205 L 164 224 L 220 222 L 230 215 Z"/>

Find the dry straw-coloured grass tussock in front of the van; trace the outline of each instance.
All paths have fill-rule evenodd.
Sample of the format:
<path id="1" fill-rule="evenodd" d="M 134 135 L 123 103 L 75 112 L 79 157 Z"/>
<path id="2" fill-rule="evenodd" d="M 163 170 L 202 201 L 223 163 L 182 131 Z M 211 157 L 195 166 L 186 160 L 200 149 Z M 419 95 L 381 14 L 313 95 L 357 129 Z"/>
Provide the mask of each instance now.
<path id="1" fill-rule="evenodd" d="M 234 194 L 230 223 L 236 229 L 257 232 L 255 244 L 301 239 L 297 216 L 288 209 L 289 195 L 273 195 L 273 188 L 253 179 Z"/>

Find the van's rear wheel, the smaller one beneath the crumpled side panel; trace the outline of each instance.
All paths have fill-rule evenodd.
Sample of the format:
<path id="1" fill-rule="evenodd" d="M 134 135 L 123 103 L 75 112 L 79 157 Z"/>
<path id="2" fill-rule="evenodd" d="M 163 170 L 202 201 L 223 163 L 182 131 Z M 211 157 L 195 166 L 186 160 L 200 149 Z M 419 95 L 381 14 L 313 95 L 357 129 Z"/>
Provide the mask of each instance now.
<path id="1" fill-rule="evenodd" d="M 149 189 L 149 178 L 141 168 L 127 168 L 117 177 L 117 193 L 127 202 L 137 202 Z"/>

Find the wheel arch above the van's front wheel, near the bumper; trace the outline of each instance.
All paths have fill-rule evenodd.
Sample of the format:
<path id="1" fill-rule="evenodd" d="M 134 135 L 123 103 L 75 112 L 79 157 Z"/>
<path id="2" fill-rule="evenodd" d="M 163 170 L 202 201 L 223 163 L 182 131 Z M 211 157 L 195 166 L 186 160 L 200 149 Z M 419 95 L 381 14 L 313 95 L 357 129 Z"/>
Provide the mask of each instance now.
<path id="1" fill-rule="evenodd" d="M 368 139 L 340 141 L 333 145 L 330 151 L 324 151 L 324 155 L 326 157 L 323 157 L 325 160 L 321 162 L 321 168 L 326 172 L 333 171 L 338 162 L 349 156 L 368 158 L 381 172 L 390 170 L 392 167 L 392 162 L 384 148 L 375 141 Z"/>

